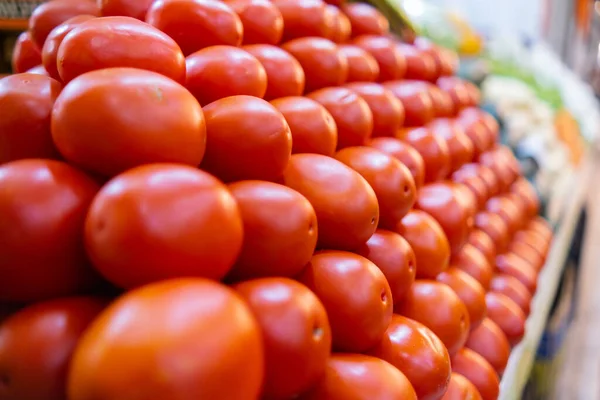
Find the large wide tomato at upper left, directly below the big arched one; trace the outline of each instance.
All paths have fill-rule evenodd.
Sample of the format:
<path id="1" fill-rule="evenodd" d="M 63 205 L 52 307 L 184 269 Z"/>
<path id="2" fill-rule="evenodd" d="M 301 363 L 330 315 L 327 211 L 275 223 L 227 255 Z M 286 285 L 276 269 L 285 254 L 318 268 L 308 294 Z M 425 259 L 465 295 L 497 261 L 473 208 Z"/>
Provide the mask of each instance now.
<path id="1" fill-rule="evenodd" d="M 202 161 L 204 115 L 177 82 L 134 68 L 92 71 L 74 82 L 52 110 L 52 138 L 69 162 L 110 177 L 152 162 Z"/>

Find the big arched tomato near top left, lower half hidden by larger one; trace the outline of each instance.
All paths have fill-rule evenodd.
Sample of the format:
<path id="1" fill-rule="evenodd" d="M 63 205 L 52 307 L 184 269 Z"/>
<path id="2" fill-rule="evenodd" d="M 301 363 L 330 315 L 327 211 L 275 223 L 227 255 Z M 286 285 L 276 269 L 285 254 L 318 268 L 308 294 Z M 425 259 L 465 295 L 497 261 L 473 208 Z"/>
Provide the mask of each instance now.
<path id="1" fill-rule="evenodd" d="M 185 58 L 177 43 L 152 25 L 130 17 L 93 18 L 76 26 L 57 53 L 63 82 L 89 71 L 129 67 L 185 81 Z"/>

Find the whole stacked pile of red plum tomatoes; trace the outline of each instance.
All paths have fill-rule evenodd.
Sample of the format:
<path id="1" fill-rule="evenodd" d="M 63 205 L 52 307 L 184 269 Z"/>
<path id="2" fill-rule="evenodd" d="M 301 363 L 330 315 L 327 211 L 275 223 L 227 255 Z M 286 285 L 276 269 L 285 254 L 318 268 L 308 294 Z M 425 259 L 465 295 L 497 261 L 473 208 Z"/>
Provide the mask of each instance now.
<path id="1" fill-rule="evenodd" d="M 52 0 L 0 80 L 0 398 L 495 399 L 551 230 L 365 4 Z"/>

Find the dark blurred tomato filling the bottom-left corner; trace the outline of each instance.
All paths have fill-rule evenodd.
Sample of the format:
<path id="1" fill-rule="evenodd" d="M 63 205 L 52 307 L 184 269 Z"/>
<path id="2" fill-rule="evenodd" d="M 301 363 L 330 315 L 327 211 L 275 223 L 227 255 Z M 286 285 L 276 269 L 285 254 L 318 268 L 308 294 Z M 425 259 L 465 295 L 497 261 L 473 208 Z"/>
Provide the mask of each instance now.
<path id="1" fill-rule="evenodd" d="M 105 302 L 74 297 L 36 303 L 0 325 L 3 399 L 66 399 L 66 377 L 81 334 Z"/>

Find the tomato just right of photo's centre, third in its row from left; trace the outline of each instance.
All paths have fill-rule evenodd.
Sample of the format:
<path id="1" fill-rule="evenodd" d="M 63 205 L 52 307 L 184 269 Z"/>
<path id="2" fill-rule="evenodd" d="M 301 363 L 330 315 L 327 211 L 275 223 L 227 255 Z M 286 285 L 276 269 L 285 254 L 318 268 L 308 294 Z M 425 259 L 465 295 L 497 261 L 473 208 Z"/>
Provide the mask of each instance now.
<path id="1" fill-rule="evenodd" d="M 375 192 L 358 172 L 341 162 L 318 154 L 296 154 L 283 181 L 314 207 L 320 248 L 354 250 L 377 229 L 379 205 Z"/>

